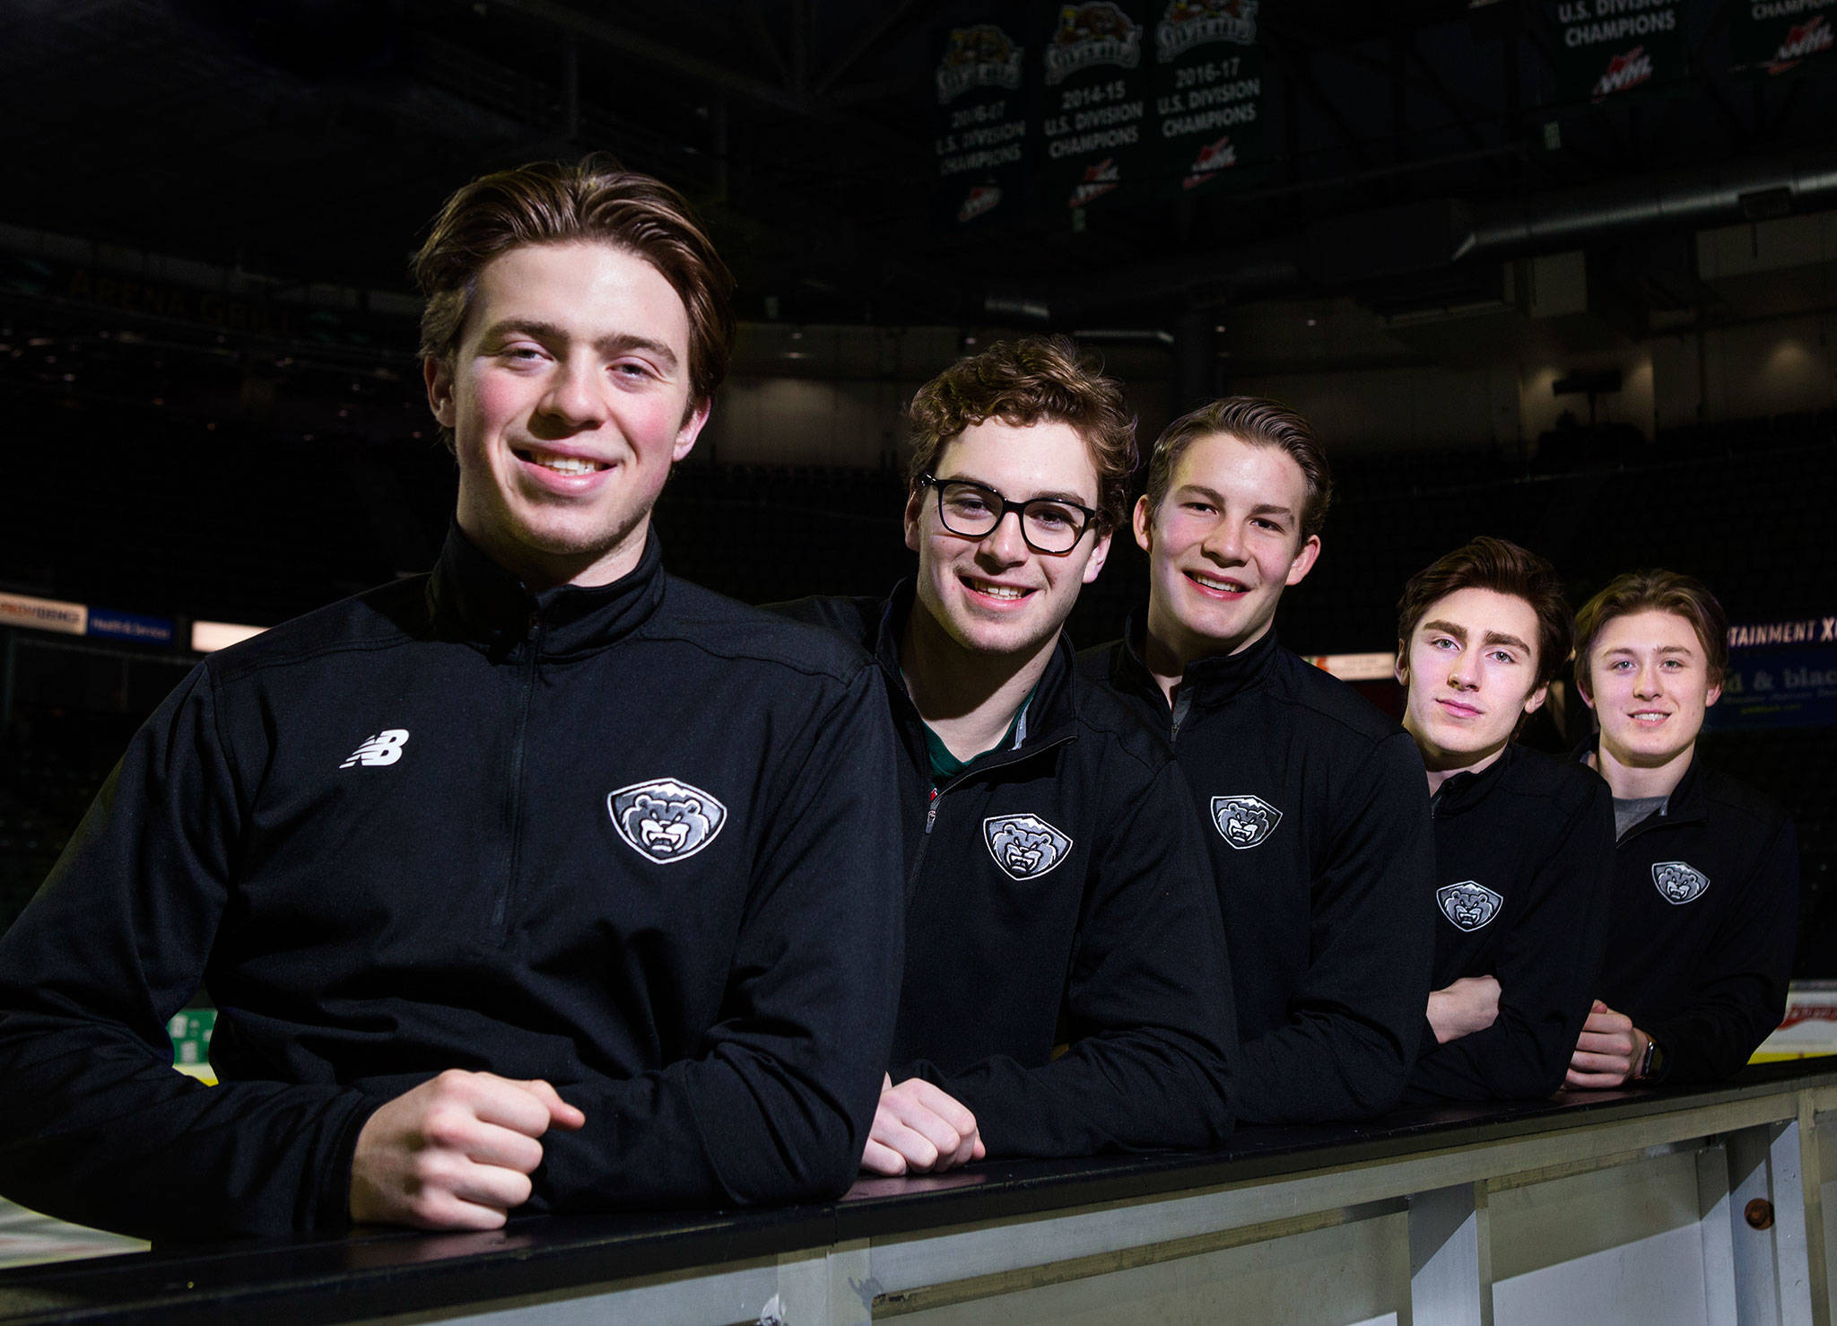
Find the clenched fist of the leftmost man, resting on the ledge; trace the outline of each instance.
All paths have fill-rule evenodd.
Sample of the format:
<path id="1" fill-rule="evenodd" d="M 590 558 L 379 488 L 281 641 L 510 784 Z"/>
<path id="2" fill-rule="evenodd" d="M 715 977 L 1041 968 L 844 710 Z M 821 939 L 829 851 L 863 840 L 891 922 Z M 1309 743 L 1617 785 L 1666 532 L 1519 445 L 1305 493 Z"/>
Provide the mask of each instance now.
<path id="1" fill-rule="evenodd" d="M 547 1082 L 448 1069 L 386 1102 L 351 1155 L 351 1219 L 419 1229 L 498 1229 L 529 1201 L 542 1137 L 586 1115 Z"/>

